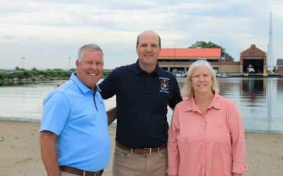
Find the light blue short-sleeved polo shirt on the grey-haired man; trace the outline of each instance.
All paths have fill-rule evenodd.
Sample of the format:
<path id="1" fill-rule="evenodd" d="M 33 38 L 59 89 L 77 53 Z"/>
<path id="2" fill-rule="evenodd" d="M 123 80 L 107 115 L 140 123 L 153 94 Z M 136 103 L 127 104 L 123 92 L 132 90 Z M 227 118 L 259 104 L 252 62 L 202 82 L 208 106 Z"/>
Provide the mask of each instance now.
<path id="1" fill-rule="evenodd" d="M 43 101 L 40 132 L 47 130 L 58 135 L 55 142 L 59 165 L 91 172 L 108 165 L 108 116 L 99 92 L 95 100 L 96 104 L 93 91 L 73 73 L 71 80 L 54 89 Z"/>

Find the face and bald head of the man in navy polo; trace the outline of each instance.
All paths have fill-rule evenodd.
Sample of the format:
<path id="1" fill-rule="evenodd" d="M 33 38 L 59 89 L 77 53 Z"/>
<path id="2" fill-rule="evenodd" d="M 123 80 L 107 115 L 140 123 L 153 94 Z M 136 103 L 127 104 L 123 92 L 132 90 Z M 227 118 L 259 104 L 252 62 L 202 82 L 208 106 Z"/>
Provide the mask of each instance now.
<path id="1" fill-rule="evenodd" d="M 151 31 L 139 35 L 139 45 L 136 46 L 139 64 L 144 67 L 156 65 L 160 54 L 158 35 Z"/>

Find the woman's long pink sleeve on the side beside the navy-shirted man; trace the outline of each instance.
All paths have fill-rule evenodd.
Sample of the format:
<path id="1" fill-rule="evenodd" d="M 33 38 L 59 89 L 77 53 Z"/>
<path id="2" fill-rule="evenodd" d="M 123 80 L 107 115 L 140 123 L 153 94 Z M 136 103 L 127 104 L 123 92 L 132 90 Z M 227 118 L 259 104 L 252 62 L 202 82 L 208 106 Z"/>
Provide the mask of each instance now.
<path id="1" fill-rule="evenodd" d="M 166 170 L 168 175 L 178 175 L 179 160 L 180 160 L 179 148 L 177 142 L 178 131 L 179 131 L 178 106 L 176 106 L 173 112 L 171 127 L 169 130 L 169 138 L 168 138 L 168 168 Z"/>

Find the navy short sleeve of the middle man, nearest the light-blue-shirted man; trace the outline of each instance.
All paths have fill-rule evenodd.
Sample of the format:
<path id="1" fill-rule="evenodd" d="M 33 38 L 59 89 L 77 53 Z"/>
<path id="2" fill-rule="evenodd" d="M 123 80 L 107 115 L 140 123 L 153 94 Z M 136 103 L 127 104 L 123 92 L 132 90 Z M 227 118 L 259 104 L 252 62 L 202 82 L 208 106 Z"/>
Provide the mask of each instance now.
<path id="1" fill-rule="evenodd" d="M 109 99 L 115 95 L 115 73 L 116 69 L 98 84 L 99 89 L 101 90 L 100 95 L 103 99 Z"/>

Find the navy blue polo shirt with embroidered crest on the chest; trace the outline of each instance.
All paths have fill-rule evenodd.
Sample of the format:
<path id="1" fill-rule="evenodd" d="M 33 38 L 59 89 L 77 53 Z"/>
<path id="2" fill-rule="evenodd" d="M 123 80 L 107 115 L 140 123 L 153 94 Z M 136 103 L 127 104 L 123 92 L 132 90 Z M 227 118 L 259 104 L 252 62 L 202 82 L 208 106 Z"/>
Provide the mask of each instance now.
<path id="1" fill-rule="evenodd" d="M 115 68 L 99 84 L 103 99 L 116 95 L 116 141 L 132 149 L 155 148 L 168 142 L 167 106 L 182 101 L 172 73 L 156 65 L 153 73 L 132 65 Z"/>

